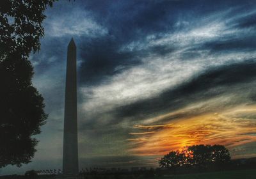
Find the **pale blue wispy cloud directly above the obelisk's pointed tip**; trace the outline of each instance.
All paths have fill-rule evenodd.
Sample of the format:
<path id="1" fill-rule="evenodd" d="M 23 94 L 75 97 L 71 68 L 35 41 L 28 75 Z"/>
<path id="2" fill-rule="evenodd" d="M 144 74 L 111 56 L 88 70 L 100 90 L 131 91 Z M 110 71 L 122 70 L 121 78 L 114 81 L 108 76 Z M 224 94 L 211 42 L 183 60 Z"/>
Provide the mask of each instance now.
<path id="1" fill-rule="evenodd" d="M 67 36 L 90 36 L 96 37 L 106 35 L 108 29 L 101 26 L 92 18 L 92 13 L 72 6 L 67 2 L 62 2 L 56 7 L 56 11 L 61 10 L 61 16 L 53 13 L 51 19 L 45 20 L 45 36 L 55 38 Z"/>

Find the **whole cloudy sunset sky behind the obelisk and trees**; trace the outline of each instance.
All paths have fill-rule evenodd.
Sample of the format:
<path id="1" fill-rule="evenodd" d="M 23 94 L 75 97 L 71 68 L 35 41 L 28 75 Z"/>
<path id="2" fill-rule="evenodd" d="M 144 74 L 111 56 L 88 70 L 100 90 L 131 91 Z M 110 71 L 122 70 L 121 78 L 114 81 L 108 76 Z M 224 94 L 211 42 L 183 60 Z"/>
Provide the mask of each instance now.
<path id="1" fill-rule="evenodd" d="M 67 45 L 77 45 L 80 167 L 157 167 L 170 150 L 223 144 L 256 157 L 256 1 L 59 1 L 31 54 L 49 114 L 33 162 L 62 166 Z"/>

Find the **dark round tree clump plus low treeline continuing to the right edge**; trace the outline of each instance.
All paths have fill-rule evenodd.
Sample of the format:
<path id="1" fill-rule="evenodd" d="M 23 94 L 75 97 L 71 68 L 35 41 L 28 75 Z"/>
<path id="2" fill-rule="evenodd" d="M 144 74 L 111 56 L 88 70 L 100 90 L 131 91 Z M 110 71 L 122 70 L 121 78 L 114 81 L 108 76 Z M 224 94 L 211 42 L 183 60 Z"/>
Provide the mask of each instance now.
<path id="1" fill-rule="evenodd" d="M 171 151 L 159 160 L 161 173 L 199 173 L 256 168 L 256 158 L 231 160 L 222 145 L 192 145 Z"/>

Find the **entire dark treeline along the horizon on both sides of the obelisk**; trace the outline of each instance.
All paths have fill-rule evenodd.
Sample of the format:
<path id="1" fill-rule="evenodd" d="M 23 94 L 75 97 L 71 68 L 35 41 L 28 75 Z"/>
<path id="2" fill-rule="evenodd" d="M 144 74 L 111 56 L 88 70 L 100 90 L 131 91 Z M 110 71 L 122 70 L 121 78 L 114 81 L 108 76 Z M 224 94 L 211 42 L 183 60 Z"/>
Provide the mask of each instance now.
<path id="1" fill-rule="evenodd" d="M 82 168 L 81 178 L 154 178 L 155 176 L 202 173 L 237 169 L 256 169 L 256 158 L 230 159 L 230 154 L 221 145 L 193 145 L 182 150 L 171 151 L 159 160 L 158 168 Z M 61 169 L 26 171 L 25 175 L 0 176 L 4 179 L 56 178 Z"/>

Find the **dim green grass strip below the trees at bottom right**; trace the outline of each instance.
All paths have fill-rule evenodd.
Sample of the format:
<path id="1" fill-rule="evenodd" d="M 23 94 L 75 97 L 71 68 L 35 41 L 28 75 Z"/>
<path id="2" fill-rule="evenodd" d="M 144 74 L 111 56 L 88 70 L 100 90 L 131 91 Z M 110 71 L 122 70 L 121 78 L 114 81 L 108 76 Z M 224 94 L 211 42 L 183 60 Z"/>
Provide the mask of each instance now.
<path id="1" fill-rule="evenodd" d="M 234 171 L 217 171 L 209 173 L 194 173 L 186 175 L 156 176 L 156 179 L 255 179 L 256 169 L 243 169 Z"/>

